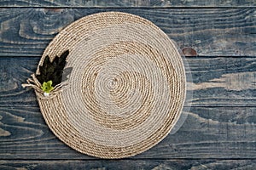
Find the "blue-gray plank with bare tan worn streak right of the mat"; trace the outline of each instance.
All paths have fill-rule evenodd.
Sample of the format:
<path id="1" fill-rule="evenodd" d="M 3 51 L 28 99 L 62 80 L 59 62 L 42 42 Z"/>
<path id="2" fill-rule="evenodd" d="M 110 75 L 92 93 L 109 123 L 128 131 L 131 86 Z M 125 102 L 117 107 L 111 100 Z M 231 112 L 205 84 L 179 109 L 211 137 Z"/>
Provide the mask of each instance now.
<path id="1" fill-rule="evenodd" d="M 0 106 L 38 106 L 21 83 L 36 71 L 39 58 L 0 58 Z M 255 58 L 188 58 L 193 106 L 255 106 Z"/>

